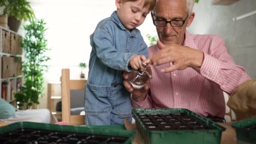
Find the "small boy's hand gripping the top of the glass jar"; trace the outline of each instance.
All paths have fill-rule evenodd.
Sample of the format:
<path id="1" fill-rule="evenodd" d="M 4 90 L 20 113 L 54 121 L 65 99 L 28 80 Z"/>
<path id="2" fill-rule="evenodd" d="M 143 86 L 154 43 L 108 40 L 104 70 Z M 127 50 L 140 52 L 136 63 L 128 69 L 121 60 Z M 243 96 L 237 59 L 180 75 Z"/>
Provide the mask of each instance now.
<path id="1" fill-rule="evenodd" d="M 130 59 L 129 65 L 135 70 L 138 70 L 138 68 L 144 70 L 145 67 L 142 65 L 142 62 L 144 61 L 146 61 L 146 57 L 144 55 L 134 55 Z"/>

